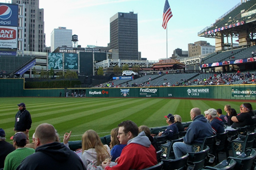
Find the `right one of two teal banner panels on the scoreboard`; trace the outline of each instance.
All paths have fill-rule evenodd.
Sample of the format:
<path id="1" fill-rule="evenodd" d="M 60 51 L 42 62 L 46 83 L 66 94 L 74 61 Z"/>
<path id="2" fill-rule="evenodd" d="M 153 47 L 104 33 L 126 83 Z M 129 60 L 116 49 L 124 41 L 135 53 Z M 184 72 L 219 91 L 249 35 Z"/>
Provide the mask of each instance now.
<path id="1" fill-rule="evenodd" d="M 78 70 L 78 54 L 75 54 L 75 53 L 64 54 L 64 69 Z"/>

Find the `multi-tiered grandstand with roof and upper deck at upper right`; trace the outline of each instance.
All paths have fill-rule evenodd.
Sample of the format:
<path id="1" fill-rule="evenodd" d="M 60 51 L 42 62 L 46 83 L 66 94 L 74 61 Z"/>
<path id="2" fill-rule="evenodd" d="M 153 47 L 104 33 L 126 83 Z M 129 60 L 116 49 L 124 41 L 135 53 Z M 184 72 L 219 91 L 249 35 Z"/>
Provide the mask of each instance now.
<path id="1" fill-rule="evenodd" d="M 223 72 L 232 69 L 255 69 L 255 58 L 251 58 L 252 52 L 255 52 L 255 28 L 256 1 L 241 1 L 218 18 L 215 23 L 197 33 L 200 37 L 214 38 L 216 52 L 205 56 L 184 58 L 180 62 L 187 66 L 187 70 L 195 70 L 199 65 L 199 69 L 203 71 L 215 71 L 216 67 Z M 235 39 L 238 39 L 236 41 L 239 42 L 239 46 L 233 46 Z"/>

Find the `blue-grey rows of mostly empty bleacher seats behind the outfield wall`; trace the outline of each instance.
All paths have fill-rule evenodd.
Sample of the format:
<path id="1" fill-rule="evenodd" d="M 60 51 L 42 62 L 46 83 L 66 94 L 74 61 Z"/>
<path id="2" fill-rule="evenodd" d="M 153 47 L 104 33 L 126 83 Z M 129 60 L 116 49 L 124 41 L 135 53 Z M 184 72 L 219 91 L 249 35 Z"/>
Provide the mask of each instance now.
<path id="1" fill-rule="evenodd" d="M 247 70 L 242 71 L 241 74 L 245 75 L 246 73 L 250 73 L 251 75 L 256 76 L 255 70 Z M 224 79 L 224 84 L 230 83 L 228 78 L 232 77 L 231 84 L 244 84 L 244 83 L 255 83 L 251 82 L 251 77 L 244 77 L 243 79 L 236 79 L 234 75 L 236 75 L 236 71 L 230 73 L 223 73 L 222 79 Z M 214 79 L 214 74 L 216 74 L 216 78 L 220 79 L 220 73 L 182 73 L 182 74 L 147 74 L 135 80 L 113 80 L 114 84 L 119 87 L 158 87 L 158 86 L 202 86 L 209 85 L 199 82 L 205 82 L 205 80 L 209 80 L 210 76 Z M 228 77 L 228 78 L 226 78 Z M 151 80 L 149 81 L 149 78 Z M 210 81 L 208 81 L 209 83 Z M 109 83 L 109 82 L 108 82 Z M 213 84 L 215 85 L 215 84 Z M 115 87 L 115 86 L 114 86 Z"/>

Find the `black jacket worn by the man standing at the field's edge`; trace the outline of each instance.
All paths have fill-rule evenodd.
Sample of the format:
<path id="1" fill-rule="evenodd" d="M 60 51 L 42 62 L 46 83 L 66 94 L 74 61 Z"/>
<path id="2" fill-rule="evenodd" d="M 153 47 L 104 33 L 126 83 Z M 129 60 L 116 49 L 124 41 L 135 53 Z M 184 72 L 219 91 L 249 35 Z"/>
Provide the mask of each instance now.
<path id="1" fill-rule="evenodd" d="M 19 118 L 19 121 L 17 121 Z M 30 129 L 32 124 L 30 112 L 27 110 L 18 111 L 15 116 L 15 125 L 14 128 L 17 131 L 26 131 Z"/>

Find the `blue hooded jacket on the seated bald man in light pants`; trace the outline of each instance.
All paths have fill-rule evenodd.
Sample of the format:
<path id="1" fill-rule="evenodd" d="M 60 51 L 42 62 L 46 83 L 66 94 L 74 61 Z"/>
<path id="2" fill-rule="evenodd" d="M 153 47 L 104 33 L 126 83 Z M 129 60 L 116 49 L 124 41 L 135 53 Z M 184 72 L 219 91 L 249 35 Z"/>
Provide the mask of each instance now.
<path id="1" fill-rule="evenodd" d="M 210 126 L 203 114 L 200 114 L 199 116 L 196 116 L 193 122 L 188 126 L 183 141 L 188 145 L 192 145 L 193 143 L 203 143 L 204 138 L 212 135 L 212 126 Z"/>

